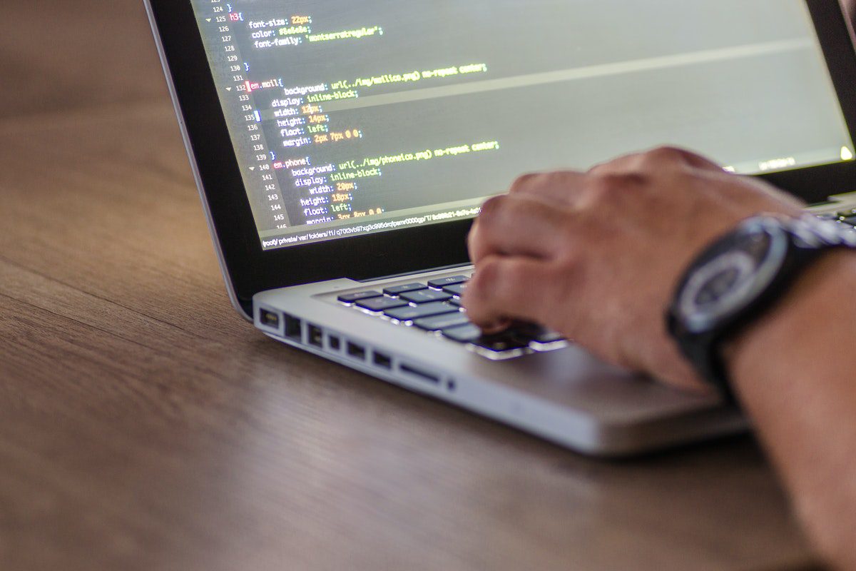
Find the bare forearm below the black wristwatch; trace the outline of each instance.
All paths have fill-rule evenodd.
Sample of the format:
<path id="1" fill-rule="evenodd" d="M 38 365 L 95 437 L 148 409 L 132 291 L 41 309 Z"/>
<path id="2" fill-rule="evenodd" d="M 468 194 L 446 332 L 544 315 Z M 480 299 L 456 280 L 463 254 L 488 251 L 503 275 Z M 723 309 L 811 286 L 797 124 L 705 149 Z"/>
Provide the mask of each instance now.
<path id="1" fill-rule="evenodd" d="M 734 388 L 812 538 L 856 569 L 856 254 L 823 259 L 729 348 Z"/>

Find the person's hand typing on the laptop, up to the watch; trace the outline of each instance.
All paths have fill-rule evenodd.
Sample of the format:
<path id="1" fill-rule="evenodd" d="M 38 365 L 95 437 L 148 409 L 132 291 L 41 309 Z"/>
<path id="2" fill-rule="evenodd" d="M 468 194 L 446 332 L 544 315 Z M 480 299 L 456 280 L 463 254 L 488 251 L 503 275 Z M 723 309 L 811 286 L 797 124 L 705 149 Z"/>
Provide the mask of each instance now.
<path id="1" fill-rule="evenodd" d="M 537 322 L 604 360 L 705 390 L 664 315 L 692 259 L 759 213 L 799 216 L 800 203 L 674 148 L 525 175 L 473 225 L 463 303 L 485 330 Z"/>

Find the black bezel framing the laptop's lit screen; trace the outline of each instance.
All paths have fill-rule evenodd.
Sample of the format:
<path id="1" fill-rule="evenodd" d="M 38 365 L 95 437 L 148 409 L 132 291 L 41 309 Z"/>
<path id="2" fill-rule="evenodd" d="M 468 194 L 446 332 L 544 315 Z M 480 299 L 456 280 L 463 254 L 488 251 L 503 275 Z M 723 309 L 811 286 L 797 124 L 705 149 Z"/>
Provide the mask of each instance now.
<path id="1" fill-rule="evenodd" d="M 471 220 L 264 251 L 217 88 L 189 0 L 146 0 L 163 64 L 207 203 L 230 286 L 247 311 L 253 294 L 348 277 L 366 280 L 467 262 Z M 856 52 L 838 0 L 805 0 L 832 72 L 847 128 L 856 133 Z M 856 161 L 760 175 L 808 202 L 856 190 Z M 509 181 L 510 182 L 510 181 Z M 249 313 L 247 311 L 247 313 Z"/>

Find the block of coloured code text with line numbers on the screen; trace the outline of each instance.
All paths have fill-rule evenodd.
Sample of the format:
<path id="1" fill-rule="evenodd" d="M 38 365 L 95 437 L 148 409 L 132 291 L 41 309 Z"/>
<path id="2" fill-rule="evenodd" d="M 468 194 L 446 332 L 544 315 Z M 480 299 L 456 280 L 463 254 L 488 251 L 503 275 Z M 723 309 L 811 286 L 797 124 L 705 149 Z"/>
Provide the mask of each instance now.
<path id="1" fill-rule="evenodd" d="M 383 107 L 360 114 L 326 110 L 332 102 L 379 91 L 449 85 L 487 76 L 487 62 L 449 62 L 441 67 L 416 62 L 412 68 L 389 69 L 379 60 L 370 66 L 369 74 L 345 72 L 338 77 L 334 64 L 312 69 L 312 82 L 295 84 L 288 79 L 288 69 L 279 65 L 286 57 L 283 54 L 310 58 L 312 53 L 307 51 L 318 50 L 313 45 L 330 45 L 323 48 L 325 61 L 334 62 L 348 56 L 352 42 L 383 42 L 389 34 L 382 26 L 361 23 L 325 30 L 323 18 L 282 13 L 282 4 L 277 2 L 201 1 L 211 7 L 212 20 L 221 25 L 218 32 L 234 82 L 227 90 L 241 104 L 240 119 L 246 123 L 247 142 L 255 159 L 250 170 L 265 190 L 257 200 L 256 217 L 266 217 L 270 228 L 288 230 L 400 210 L 400 197 L 373 192 L 383 186 L 379 181 L 391 170 L 500 148 L 498 140 L 475 136 L 460 140 L 450 135 L 442 146 L 415 151 L 401 148 L 411 141 L 389 141 L 383 153 L 365 156 L 367 141 L 386 139 Z M 272 69 L 281 73 L 269 73 Z M 415 146 L 421 142 L 421 129 L 416 121 L 412 127 Z"/>

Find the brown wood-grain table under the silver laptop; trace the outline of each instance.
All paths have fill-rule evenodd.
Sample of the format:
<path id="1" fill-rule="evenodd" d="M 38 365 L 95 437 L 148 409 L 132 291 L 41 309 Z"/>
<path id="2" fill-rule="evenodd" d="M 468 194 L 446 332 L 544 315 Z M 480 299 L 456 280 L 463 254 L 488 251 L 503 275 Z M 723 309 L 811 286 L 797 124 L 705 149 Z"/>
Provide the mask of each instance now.
<path id="1" fill-rule="evenodd" d="M 38 4 L 0 34 L 0 568 L 811 567 L 750 437 L 592 461 L 259 335 L 141 6 Z"/>

